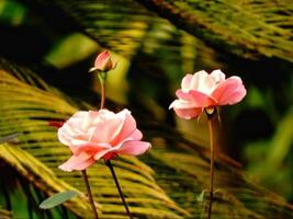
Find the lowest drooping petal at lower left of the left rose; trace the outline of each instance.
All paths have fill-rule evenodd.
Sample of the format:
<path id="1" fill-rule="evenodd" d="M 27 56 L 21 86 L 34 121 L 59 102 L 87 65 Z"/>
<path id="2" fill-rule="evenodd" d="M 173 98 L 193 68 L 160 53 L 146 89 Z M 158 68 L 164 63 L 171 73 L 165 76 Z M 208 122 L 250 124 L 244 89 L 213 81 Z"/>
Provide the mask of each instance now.
<path id="1" fill-rule="evenodd" d="M 80 153 L 79 155 L 72 155 L 67 160 L 64 164 L 59 165 L 58 168 L 63 171 L 81 171 L 86 170 L 90 165 L 92 165 L 95 162 L 95 160 L 92 158 L 92 155 L 87 153 Z"/>

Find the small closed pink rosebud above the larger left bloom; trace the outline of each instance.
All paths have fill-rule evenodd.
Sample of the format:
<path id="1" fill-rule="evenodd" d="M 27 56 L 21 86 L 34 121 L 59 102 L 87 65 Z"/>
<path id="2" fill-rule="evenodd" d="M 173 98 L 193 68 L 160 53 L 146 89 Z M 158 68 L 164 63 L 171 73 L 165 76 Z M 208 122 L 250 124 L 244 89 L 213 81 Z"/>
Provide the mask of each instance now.
<path id="1" fill-rule="evenodd" d="M 111 60 L 111 55 L 109 51 L 103 51 L 98 55 L 94 61 L 94 67 L 92 67 L 89 71 L 99 70 L 102 72 L 106 72 L 113 70 L 115 68 L 115 64 Z"/>

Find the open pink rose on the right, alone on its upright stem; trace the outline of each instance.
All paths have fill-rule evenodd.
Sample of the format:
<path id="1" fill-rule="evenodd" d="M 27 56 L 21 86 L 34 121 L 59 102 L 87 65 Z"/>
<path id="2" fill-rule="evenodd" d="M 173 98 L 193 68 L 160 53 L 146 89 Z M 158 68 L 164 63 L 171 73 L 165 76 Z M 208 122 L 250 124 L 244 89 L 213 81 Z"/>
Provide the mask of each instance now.
<path id="1" fill-rule="evenodd" d="M 176 92 L 178 100 L 169 108 L 173 108 L 179 117 L 190 119 L 201 115 L 204 108 L 240 102 L 246 95 L 241 79 L 236 76 L 225 78 L 221 70 L 210 74 L 206 71 L 187 74 L 181 89 Z"/>

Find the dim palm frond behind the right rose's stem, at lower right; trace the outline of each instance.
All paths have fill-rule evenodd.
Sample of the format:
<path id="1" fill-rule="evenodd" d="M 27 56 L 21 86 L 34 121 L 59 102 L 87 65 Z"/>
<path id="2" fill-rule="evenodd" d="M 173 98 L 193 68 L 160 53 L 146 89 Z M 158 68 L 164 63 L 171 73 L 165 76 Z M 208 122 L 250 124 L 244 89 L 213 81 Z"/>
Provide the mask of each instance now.
<path id="1" fill-rule="evenodd" d="M 156 178 L 169 196 L 194 218 L 206 216 L 209 203 L 210 153 L 205 148 L 178 136 L 161 124 L 149 124 L 145 134 L 156 150 L 144 161 L 156 171 Z M 224 154 L 215 164 L 216 218 L 291 218 L 293 206 L 277 194 L 252 183 L 248 175 Z M 172 183 L 170 183 L 172 182 Z M 205 191 L 205 198 L 199 196 Z"/>

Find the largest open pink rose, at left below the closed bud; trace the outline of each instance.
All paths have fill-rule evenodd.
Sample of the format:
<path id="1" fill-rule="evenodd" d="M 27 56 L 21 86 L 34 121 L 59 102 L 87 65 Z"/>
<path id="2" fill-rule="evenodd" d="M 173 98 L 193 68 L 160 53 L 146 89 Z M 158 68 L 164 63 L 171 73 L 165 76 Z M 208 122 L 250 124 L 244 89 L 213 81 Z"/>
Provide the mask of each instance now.
<path id="1" fill-rule="evenodd" d="M 72 152 L 59 169 L 84 170 L 101 158 L 139 155 L 150 148 L 149 142 L 140 141 L 142 138 L 127 110 L 116 114 L 108 110 L 77 112 L 58 129 L 59 141 Z"/>

